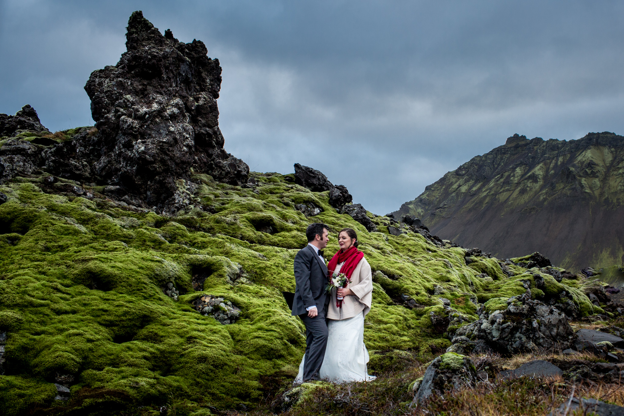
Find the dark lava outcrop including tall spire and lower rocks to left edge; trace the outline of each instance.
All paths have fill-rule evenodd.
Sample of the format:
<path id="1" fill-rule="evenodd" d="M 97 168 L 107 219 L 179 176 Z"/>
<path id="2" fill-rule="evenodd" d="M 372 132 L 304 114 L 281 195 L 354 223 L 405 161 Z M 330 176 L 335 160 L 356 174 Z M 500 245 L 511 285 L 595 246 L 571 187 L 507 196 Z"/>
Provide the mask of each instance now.
<path id="1" fill-rule="evenodd" d="M 246 183 L 248 166 L 223 149 L 218 60 L 201 41 L 163 36 L 140 11 L 130 16 L 126 39 L 117 65 L 95 70 L 85 85 L 95 128 L 51 135 L 29 105 L 0 115 L 1 135 L 9 137 L 0 148 L 0 181 L 43 170 L 114 186 L 115 198 L 129 205 L 171 212 L 190 203 L 193 173 Z"/>

